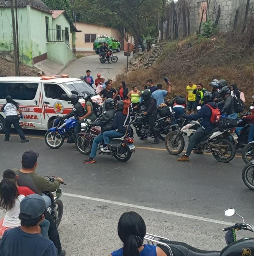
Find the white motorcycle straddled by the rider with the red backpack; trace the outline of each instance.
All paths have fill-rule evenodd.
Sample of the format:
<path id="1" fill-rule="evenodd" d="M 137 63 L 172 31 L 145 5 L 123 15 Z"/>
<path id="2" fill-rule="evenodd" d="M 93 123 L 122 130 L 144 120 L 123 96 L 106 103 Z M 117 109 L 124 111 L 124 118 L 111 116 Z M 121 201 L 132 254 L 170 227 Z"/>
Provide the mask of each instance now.
<path id="1" fill-rule="evenodd" d="M 178 119 L 180 129 L 178 131 L 171 131 L 166 135 L 165 146 L 170 154 L 178 155 L 185 147 L 184 136 L 190 137 L 200 127 L 198 121 L 192 121 L 189 119 Z M 226 135 L 225 135 L 226 134 Z M 231 141 L 223 137 L 228 136 L 235 137 L 234 129 L 225 129 L 219 131 L 219 128 L 211 130 L 210 134 L 204 136 L 201 142 L 198 142 L 193 150 L 208 151 L 213 154 L 213 157 L 219 162 L 230 162 L 236 155 L 236 148 Z M 237 136 L 236 136 L 237 137 Z"/>

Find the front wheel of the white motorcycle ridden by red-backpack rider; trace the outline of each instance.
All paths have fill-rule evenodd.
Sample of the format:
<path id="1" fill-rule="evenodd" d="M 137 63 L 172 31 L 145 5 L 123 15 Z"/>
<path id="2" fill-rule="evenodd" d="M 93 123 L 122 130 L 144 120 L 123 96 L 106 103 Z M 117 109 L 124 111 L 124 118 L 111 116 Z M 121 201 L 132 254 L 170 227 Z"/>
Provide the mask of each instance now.
<path id="1" fill-rule="evenodd" d="M 182 135 L 177 136 L 178 131 L 171 131 L 166 135 L 165 146 L 170 154 L 178 155 L 184 150 L 185 142 Z"/>

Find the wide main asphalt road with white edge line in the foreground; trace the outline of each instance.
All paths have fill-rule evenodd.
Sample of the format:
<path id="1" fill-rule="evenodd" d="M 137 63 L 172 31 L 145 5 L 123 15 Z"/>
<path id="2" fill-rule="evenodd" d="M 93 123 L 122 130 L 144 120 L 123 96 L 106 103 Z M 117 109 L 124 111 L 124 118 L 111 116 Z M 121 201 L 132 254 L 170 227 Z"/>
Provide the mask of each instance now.
<path id="1" fill-rule="evenodd" d="M 241 180 L 240 157 L 225 164 L 211 155 L 192 155 L 191 162 L 178 163 L 163 143 L 154 147 L 151 140 L 136 140 L 127 163 L 99 155 L 97 163 L 85 165 L 74 145 L 49 149 L 44 132 L 26 133 L 30 142 L 24 144 L 17 136 L 5 142 L 0 135 L 0 174 L 20 167 L 22 152 L 33 149 L 40 153 L 38 173 L 66 180 L 59 231 L 68 255 L 108 255 L 120 247 L 117 221 L 124 211 L 139 212 L 149 233 L 211 250 L 225 246 L 222 228 L 229 223 L 224 222 L 241 221 L 224 217 L 225 208 L 235 207 L 254 223 L 253 191 Z"/>

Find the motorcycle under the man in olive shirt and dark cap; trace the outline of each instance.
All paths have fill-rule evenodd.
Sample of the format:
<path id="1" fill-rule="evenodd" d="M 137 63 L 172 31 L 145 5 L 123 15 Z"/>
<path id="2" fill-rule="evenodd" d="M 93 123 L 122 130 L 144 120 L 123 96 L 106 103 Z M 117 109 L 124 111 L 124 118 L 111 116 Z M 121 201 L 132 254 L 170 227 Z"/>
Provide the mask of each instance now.
<path id="1" fill-rule="evenodd" d="M 50 182 L 54 182 L 56 177 L 45 176 L 45 178 Z M 61 184 L 66 185 L 64 181 L 61 182 Z M 44 195 L 50 197 L 51 199 L 51 206 L 47 208 L 47 211 L 52 215 L 53 220 L 56 223 L 56 227 L 58 228 L 63 216 L 63 202 L 59 199 L 62 195 L 62 188 L 58 187 L 58 189 L 56 190 L 56 195 L 53 195 L 50 191 L 42 192 Z"/>

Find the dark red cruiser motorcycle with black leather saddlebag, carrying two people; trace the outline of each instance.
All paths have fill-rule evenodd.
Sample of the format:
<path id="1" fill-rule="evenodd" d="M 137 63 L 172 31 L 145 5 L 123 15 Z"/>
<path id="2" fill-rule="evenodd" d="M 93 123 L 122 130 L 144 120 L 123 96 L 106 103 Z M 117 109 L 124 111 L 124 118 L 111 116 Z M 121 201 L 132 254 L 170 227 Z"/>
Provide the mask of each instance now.
<path id="1" fill-rule="evenodd" d="M 81 154 L 89 154 L 91 152 L 92 142 L 100 133 L 99 127 L 94 127 L 90 122 L 84 119 L 81 124 L 81 132 L 76 139 L 76 146 Z M 98 154 L 112 155 L 120 162 L 127 162 L 132 153 L 135 153 L 134 140 L 125 134 L 122 138 L 113 138 L 109 143 L 110 152 L 104 153 L 100 150 L 103 144 L 98 145 Z"/>

